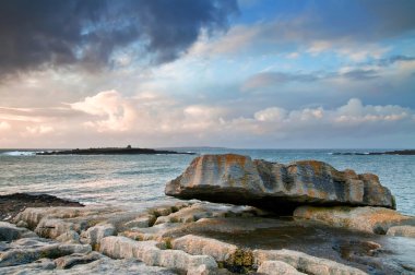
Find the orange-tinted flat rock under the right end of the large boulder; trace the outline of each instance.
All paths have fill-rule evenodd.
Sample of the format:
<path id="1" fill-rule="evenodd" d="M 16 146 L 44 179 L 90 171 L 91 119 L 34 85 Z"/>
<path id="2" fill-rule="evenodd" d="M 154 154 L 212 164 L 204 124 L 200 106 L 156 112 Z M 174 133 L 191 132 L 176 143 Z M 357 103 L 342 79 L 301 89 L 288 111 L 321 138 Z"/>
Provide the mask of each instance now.
<path id="1" fill-rule="evenodd" d="M 415 225 L 415 218 L 383 207 L 300 206 L 294 217 L 321 222 L 329 226 L 384 235 L 396 225 Z"/>

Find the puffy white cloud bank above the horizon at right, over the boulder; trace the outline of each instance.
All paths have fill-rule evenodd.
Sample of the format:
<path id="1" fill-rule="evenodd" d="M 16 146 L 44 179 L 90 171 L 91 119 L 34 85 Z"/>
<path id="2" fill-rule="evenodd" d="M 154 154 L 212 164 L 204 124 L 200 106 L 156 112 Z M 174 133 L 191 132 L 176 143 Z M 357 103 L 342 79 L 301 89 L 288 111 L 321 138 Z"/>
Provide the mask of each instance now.
<path id="1" fill-rule="evenodd" d="M 276 130 L 289 134 L 298 129 L 307 133 L 323 130 L 328 135 L 332 135 L 334 130 L 340 134 L 342 131 L 366 129 L 365 132 L 370 134 L 374 129 L 379 128 L 400 131 L 407 125 L 415 127 L 413 110 L 396 105 L 363 105 L 358 98 L 352 98 L 346 105 L 336 109 L 318 107 L 288 111 L 284 108 L 271 107 L 257 111 L 253 119 L 246 118 L 244 120 L 248 124 L 259 125 L 262 129 L 261 134 L 272 134 Z M 229 123 L 233 122 L 239 125 L 240 119 Z"/>

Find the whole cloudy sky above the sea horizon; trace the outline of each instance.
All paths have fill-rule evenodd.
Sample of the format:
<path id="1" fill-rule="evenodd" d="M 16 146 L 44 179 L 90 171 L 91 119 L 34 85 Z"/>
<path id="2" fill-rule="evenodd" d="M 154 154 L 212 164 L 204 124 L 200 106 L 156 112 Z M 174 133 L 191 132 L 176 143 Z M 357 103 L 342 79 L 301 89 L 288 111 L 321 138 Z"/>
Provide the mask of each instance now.
<path id="1" fill-rule="evenodd" d="M 0 148 L 414 148 L 413 0 L 0 1 Z"/>

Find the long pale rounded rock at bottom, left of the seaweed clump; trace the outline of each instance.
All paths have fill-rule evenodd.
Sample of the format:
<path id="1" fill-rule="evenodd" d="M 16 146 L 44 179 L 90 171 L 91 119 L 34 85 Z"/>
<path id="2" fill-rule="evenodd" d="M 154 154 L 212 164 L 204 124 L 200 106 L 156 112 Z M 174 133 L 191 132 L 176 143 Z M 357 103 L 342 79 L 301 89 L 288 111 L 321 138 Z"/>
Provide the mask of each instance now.
<path id="1" fill-rule="evenodd" d="M 190 255 L 180 250 L 162 250 L 155 241 L 134 241 L 126 237 L 106 237 L 102 239 L 99 251 L 115 259 L 139 259 L 147 265 L 194 270 L 200 265 L 217 268 L 213 258 L 208 255 Z"/>

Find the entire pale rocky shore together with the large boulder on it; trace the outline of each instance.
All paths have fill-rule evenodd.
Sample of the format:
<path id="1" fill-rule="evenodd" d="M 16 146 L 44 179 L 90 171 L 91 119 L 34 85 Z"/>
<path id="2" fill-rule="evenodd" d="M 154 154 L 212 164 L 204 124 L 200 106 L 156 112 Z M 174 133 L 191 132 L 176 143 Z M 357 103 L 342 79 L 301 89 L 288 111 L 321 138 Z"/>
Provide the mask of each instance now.
<path id="1" fill-rule="evenodd" d="M 200 156 L 166 193 L 189 201 L 27 207 L 0 223 L 0 274 L 415 273 L 415 217 L 375 175 Z"/>

